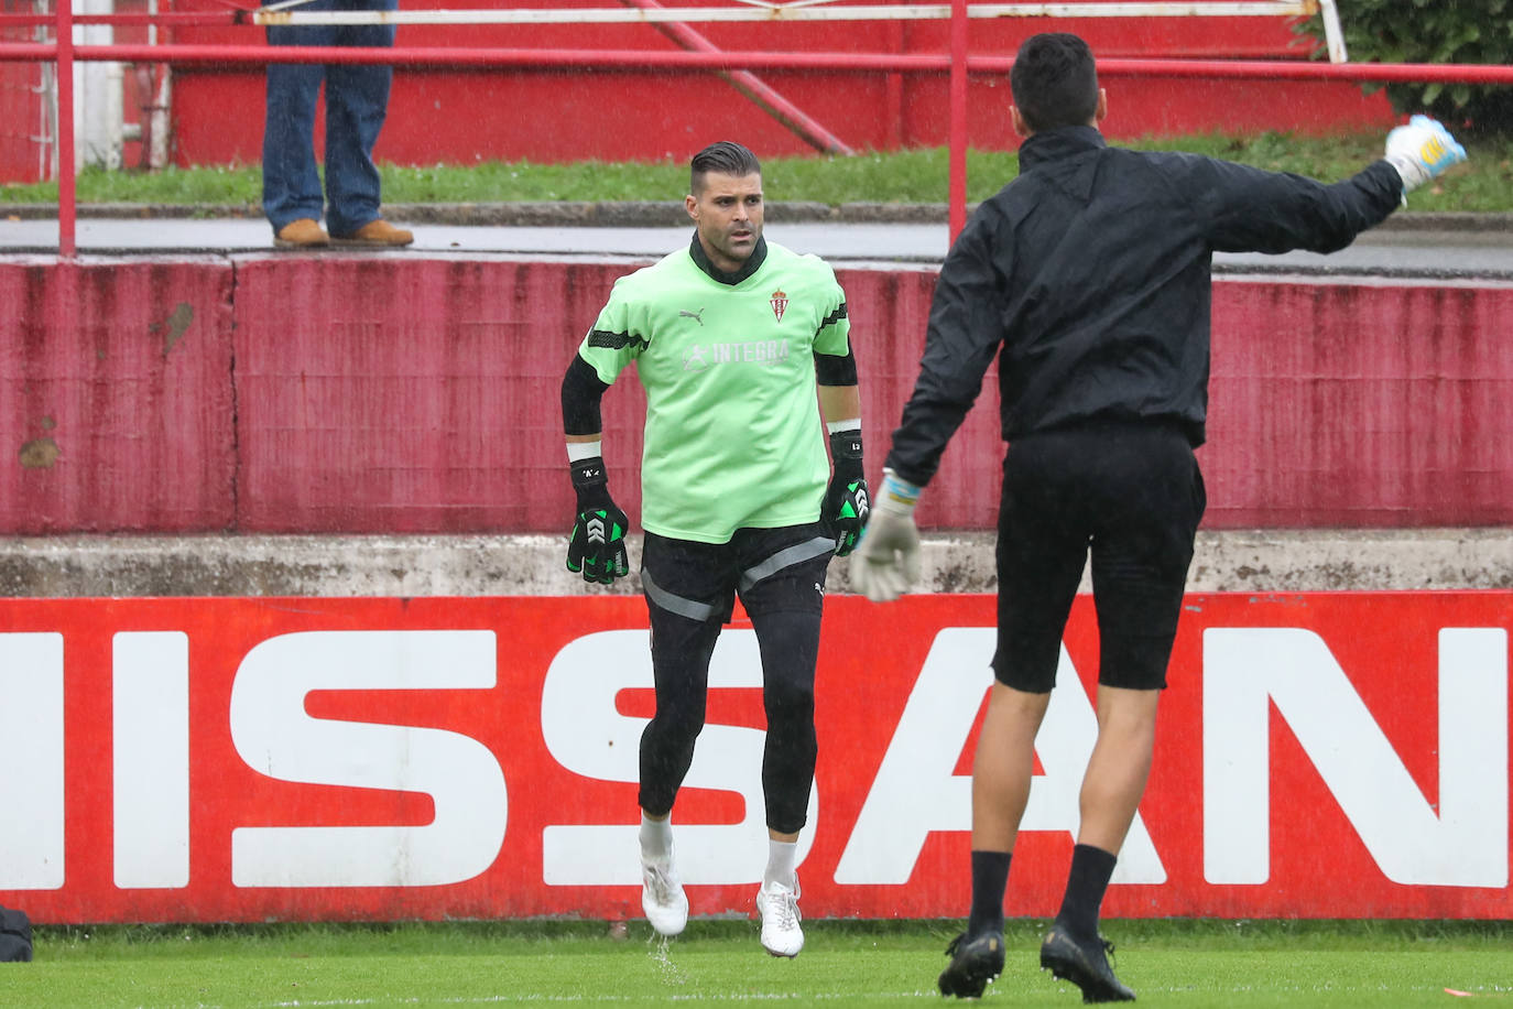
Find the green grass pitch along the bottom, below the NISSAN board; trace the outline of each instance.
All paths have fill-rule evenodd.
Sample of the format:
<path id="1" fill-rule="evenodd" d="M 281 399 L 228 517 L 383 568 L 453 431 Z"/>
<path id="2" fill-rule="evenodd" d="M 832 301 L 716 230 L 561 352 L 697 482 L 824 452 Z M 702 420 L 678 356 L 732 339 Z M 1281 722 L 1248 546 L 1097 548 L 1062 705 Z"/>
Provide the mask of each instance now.
<path id="1" fill-rule="evenodd" d="M 1079 1006 L 1011 921 L 983 1004 Z M 809 921 L 794 961 L 752 921 L 664 942 L 643 921 L 39 927 L 0 965 L 6 1006 L 944 1004 L 956 921 Z M 1108 921 L 1150 1006 L 1513 1004 L 1513 923 Z M 1457 994 L 1459 992 L 1459 994 Z M 952 1000 L 955 1001 L 955 1000 Z"/>

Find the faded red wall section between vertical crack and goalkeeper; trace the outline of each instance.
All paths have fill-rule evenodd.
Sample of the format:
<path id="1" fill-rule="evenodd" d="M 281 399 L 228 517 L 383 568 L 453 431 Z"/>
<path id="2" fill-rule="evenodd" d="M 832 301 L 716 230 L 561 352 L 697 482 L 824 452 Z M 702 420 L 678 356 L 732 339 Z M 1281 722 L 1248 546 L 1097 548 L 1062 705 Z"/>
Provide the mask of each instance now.
<path id="1" fill-rule="evenodd" d="M 241 522 L 520 531 L 564 505 L 558 387 L 608 265 L 262 259 L 238 271 Z M 575 336 L 576 334 L 576 336 Z M 638 392 L 638 389 L 635 390 Z M 640 401 L 607 424 L 629 430 Z M 634 486 L 638 436 L 616 490 Z"/>

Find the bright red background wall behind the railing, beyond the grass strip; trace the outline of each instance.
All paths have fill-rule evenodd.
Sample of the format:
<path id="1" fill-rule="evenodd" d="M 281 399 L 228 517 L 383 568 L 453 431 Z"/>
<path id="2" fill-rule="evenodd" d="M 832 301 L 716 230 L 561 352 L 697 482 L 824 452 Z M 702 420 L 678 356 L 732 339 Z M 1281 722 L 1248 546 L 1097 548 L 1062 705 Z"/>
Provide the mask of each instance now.
<path id="1" fill-rule="evenodd" d="M 207 6 L 209 5 L 209 6 Z M 222 9 L 180 0 L 180 9 Z M 405 9 L 492 8 L 495 0 L 407 0 Z M 505 6 L 542 6 L 507 3 Z M 560 6 L 602 6 L 578 0 Z M 843 53 L 944 53 L 944 23 L 694 24 L 720 48 Z M 1041 30 L 1082 33 L 1101 56 L 1301 57 L 1307 45 L 1282 18 L 1003 18 L 973 21 L 970 51 L 1008 54 Z M 675 51 L 651 26 L 401 26 L 401 45 L 631 48 Z M 257 42 L 262 32 L 179 29 L 182 42 Z M 761 73 L 856 150 L 946 144 L 944 74 Z M 1381 92 L 1344 82 L 1106 82 L 1115 138 L 1209 130 L 1331 133 L 1392 121 Z M 970 142 L 1014 148 L 1008 80 L 974 76 Z M 256 68 L 182 68 L 174 79 L 174 157 L 180 165 L 262 160 L 263 80 Z M 466 124 L 466 129 L 461 127 Z M 812 153 L 797 136 L 701 73 L 399 70 L 375 157 L 401 165 L 478 160 L 687 159 L 720 138 L 763 154 Z M 256 195 L 256 194 L 253 194 Z"/>

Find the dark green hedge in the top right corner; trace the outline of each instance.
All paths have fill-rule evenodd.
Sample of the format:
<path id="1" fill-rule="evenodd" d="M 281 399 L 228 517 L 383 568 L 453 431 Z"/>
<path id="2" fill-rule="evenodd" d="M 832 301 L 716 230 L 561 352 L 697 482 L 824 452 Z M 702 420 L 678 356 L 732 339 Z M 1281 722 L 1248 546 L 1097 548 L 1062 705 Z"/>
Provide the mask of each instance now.
<path id="1" fill-rule="evenodd" d="M 1350 62 L 1513 64 L 1513 0 L 1336 0 Z M 1298 32 L 1324 38 L 1315 15 Z M 1362 85 L 1366 94 L 1380 83 Z M 1428 112 L 1451 129 L 1513 135 L 1510 85 L 1387 85 L 1398 112 Z"/>

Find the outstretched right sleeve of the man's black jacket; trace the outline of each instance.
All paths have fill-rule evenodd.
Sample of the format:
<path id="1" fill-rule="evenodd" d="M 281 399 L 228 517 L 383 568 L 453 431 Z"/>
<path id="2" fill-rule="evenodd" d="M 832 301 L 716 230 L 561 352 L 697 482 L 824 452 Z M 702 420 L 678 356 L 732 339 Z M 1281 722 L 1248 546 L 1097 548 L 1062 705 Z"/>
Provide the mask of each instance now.
<path id="1" fill-rule="evenodd" d="M 1403 197 L 1384 160 L 1331 185 L 1210 157 L 1185 159 L 1179 185 L 1201 194 L 1198 212 L 1219 253 L 1334 253 L 1381 224 Z"/>

